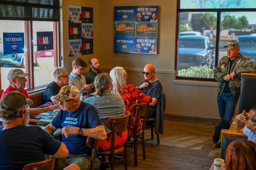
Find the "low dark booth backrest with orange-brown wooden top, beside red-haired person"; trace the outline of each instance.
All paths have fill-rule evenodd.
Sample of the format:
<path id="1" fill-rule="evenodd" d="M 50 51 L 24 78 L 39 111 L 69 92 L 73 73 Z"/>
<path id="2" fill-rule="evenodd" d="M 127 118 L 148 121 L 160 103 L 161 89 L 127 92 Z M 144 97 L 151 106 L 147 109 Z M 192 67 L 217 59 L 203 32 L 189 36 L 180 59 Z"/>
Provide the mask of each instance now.
<path id="1" fill-rule="evenodd" d="M 238 130 L 227 130 L 222 129 L 221 130 L 221 159 L 225 160 L 225 152 L 227 149 L 227 146 L 234 141 L 234 140 L 247 140 L 247 136 L 242 132 Z"/>

